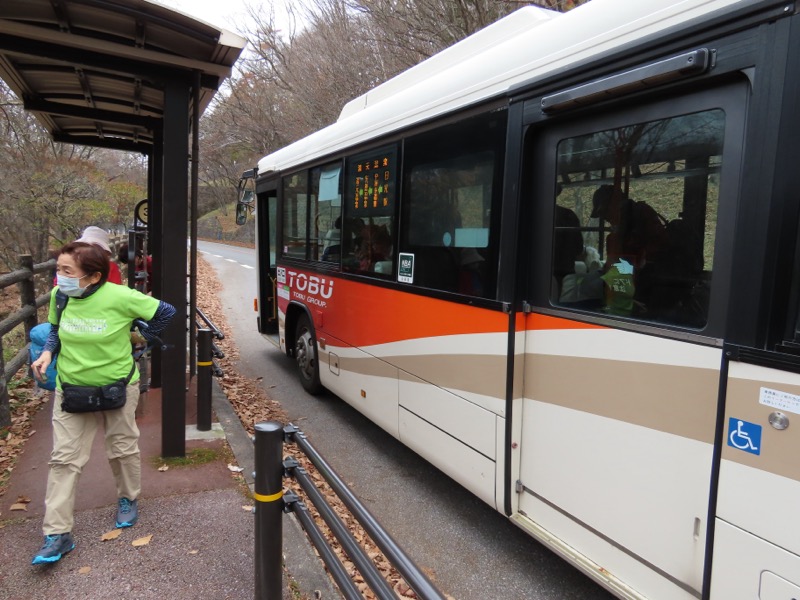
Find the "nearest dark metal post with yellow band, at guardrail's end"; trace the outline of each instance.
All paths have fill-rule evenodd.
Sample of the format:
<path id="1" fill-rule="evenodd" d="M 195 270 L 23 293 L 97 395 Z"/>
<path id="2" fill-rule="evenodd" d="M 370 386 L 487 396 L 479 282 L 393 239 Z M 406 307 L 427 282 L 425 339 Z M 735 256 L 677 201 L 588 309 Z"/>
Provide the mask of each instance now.
<path id="1" fill-rule="evenodd" d="M 255 598 L 281 600 L 283 550 L 283 425 L 255 426 Z"/>

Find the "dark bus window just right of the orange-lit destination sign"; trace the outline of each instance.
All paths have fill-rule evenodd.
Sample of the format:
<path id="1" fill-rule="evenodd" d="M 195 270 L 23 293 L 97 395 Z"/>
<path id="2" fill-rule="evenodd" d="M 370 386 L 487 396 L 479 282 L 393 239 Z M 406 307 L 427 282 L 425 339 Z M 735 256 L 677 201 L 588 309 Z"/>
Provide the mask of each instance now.
<path id="1" fill-rule="evenodd" d="M 402 251 L 414 284 L 491 297 L 505 113 L 443 127 L 406 143 Z"/>

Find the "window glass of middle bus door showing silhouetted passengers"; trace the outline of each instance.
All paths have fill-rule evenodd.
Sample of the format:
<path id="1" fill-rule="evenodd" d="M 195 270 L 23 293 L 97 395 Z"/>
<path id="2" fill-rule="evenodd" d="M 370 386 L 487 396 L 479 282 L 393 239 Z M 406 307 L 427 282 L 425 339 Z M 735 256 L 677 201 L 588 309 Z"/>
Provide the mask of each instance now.
<path id="1" fill-rule="evenodd" d="M 724 124 L 709 110 L 559 143 L 554 304 L 705 326 Z"/>

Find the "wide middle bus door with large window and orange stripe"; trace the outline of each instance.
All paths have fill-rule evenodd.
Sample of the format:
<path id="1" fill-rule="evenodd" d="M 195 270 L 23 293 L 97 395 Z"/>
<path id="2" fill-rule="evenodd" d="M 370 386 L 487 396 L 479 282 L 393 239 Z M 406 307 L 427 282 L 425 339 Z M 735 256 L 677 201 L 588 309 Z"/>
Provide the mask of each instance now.
<path id="1" fill-rule="evenodd" d="M 624 593 L 701 594 L 747 89 L 526 136 L 512 518 Z"/>

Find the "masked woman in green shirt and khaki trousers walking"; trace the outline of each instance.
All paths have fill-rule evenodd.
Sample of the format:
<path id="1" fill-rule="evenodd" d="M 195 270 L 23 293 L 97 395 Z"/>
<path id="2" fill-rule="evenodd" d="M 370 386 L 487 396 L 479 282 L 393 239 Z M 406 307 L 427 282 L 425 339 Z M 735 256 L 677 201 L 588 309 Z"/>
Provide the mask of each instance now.
<path id="1" fill-rule="evenodd" d="M 115 525 L 130 527 L 136 523 L 141 489 L 139 429 L 135 418 L 139 373 L 131 355 L 130 328 L 134 319 L 146 321 L 148 327 L 141 333 L 152 341 L 175 314 L 175 308 L 166 302 L 126 286 L 109 284 L 108 253 L 100 245 L 67 244 L 59 252 L 56 273 L 58 287 L 51 295 L 48 317 L 52 324 L 50 337 L 41 356 L 31 365 L 34 377 L 42 380 L 53 356 L 58 354 L 53 451 L 42 526 L 45 537 L 33 557 L 35 565 L 56 562 L 75 548 L 72 535 L 75 493 L 97 430 L 93 412 L 74 412 L 76 406 L 65 402 L 67 386 L 85 386 L 69 391 L 86 390 L 92 399 L 105 398 L 106 389 L 117 386 L 115 397 L 124 404 L 99 410 L 105 426 L 106 455 L 119 499 Z M 65 305 L 58 291 L 67 296 Z M 86 407 L 80 406 L 80 410 Z"/>

